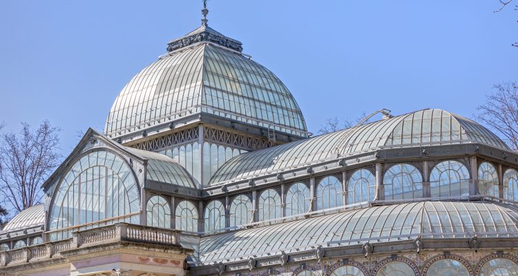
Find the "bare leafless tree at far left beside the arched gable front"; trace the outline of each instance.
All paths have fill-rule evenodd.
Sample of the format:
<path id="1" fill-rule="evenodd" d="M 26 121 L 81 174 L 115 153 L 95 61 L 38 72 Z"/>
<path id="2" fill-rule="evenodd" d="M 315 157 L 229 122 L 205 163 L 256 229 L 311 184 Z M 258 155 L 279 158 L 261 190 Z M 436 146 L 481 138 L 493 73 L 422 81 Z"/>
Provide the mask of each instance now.
<path id="1" fill-rule="evenodd" d="M 0 135 L 0 198 L 17 212 L 41 201 L 41 184 L 59 164 L 59 128 L 44 121 L 36 130 Z"/>

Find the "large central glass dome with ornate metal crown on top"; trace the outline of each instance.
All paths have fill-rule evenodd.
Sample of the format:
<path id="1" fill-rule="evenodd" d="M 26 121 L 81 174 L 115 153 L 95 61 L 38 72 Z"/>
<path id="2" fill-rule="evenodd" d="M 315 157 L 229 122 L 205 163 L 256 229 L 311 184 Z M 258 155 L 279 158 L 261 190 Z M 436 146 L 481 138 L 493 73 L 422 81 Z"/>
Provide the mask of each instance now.
<path id="1" fill-rule="evenodd" d="M 169 43 L 168 54 L 119 93 L 106 135 L 119 137 L 205 113 L 307 137 L 298 104 L 270 70 L 240 52 L 239 41 L 202 26 Z"/>

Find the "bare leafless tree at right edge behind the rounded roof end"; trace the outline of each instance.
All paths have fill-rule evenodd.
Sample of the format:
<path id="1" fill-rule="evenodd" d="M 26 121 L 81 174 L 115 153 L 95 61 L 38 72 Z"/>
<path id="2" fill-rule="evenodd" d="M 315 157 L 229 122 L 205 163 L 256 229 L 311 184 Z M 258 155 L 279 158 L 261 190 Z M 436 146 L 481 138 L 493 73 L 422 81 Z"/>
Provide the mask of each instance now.
<path id="1" fill-rule="evenodd" d="M 499 132 L 512 150 L 518 152 L 518 83 L 495 84 L 495 92 L 478 107 L 477 119 Z"/>

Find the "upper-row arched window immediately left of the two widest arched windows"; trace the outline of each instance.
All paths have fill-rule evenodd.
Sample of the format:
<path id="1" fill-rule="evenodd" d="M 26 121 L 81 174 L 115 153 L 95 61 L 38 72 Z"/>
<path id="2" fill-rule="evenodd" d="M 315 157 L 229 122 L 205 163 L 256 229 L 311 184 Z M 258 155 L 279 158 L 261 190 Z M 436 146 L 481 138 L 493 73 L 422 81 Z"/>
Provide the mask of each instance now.
<path id="1" fill-rule="evenodd" d="M 347 204 L 371 201 L 376 195 L 376 181 L 369 170 L 356 170 L 347 181 Z"/>

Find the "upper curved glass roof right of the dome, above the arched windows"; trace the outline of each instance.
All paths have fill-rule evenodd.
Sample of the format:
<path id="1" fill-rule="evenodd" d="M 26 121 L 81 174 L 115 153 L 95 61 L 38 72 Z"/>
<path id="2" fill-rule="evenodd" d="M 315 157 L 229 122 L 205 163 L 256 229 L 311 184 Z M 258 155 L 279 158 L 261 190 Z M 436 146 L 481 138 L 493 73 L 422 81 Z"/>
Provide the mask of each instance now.
<path id="1" fill-rule="evenodd" d="M 308 166 L 378 148 L 470 143 L 510 150 L 497 135 L 474 121 L 440 109 L 419 110 L 238 155 L 215 173 L 211 184 Z"/>

